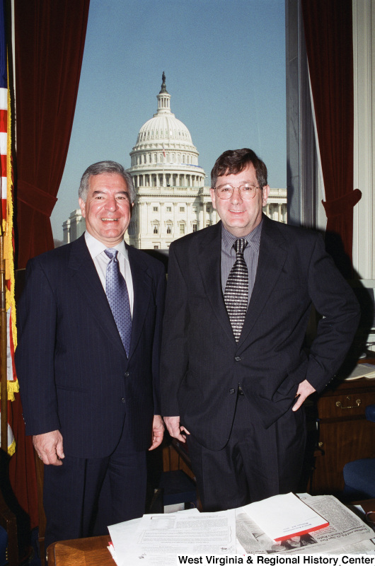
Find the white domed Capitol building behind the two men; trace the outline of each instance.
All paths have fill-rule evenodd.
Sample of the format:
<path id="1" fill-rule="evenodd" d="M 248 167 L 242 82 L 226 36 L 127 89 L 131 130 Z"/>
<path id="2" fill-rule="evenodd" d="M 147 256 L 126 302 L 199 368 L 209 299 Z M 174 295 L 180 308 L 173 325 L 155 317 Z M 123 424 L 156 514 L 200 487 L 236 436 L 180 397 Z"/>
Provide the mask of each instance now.
<path id="1" fill-rule="evenodd" d="M 125 241 L 141 249 L 167 249 L 173 240 L 219 221 L 199 152 L 188 128 L 171 112 L 164 74 L 156 98 L 158 110 L 139 130 L 127 169 L 136 198 Z M 287 189 L 271 189 L 264 212 L 286 222 Z M 64 243 L 79 238 L 86 229 L 81 210 L 71 212 L 62 228 Z"/>

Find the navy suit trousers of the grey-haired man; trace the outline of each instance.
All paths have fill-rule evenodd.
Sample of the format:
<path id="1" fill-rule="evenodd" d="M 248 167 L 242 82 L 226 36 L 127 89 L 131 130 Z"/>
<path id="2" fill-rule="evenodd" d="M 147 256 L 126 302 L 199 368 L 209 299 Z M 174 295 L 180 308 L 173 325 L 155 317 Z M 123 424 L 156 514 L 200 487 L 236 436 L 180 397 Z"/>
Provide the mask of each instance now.
<path id="1" fill-rule="evenodd" d="M 110 456 L 66 454 L 62 466 L 45 466 L 45 548 L 55 541 L 108 534 L 108 525 L 142 516 L 146 479 L 146 452 L 132 449 L 126 426 Z"/>

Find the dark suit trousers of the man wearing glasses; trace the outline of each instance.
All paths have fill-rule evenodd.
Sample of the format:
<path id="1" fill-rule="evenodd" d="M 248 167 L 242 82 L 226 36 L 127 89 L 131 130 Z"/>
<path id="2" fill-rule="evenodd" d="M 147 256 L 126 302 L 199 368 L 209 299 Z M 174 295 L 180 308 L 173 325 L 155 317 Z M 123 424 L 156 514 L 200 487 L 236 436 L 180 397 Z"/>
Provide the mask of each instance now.
<path id="1" fill-rule="evenodd" d="M 221 450 L 187 436 L 204 511 L 241 507 L 296 491 L 306 445 L 304 408 L 292 409 L 265 429 L 244 395 L 238 395 L 231 435 Z"/>

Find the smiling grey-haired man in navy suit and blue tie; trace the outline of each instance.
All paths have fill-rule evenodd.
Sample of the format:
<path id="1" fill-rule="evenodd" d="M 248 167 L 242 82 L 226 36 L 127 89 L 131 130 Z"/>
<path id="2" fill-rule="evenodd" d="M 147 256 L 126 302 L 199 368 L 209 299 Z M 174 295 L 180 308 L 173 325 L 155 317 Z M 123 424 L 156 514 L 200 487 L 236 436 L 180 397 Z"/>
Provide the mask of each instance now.
<path id="1" fill-rule="evenodd" d="M 45 463 L 46 548 L 142 516 L 146 450 L 163 439 L 165 274 L 125 245 L 134 195 L 119 163 L 88 167 L 86 233 L 26 269 L 16 369 L 26 434 Z"/>

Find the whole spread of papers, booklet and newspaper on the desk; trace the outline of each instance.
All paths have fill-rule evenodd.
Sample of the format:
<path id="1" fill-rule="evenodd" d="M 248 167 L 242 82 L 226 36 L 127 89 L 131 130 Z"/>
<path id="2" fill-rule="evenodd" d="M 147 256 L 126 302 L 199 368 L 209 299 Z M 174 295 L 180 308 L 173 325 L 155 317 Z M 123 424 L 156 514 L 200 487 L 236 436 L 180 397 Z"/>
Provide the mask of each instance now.
<path id="1" fill-rule="evenodd" d="M 220 564 L 233 555 L 241 564 L 248 554 L 280 552 L 375 553 L 374 531 L 332 495 L 289 493 L 217 513 L 150 514 L 108 530 L 117 566 Z M 204 558 L 191 562 L 192 556 Z"/>

